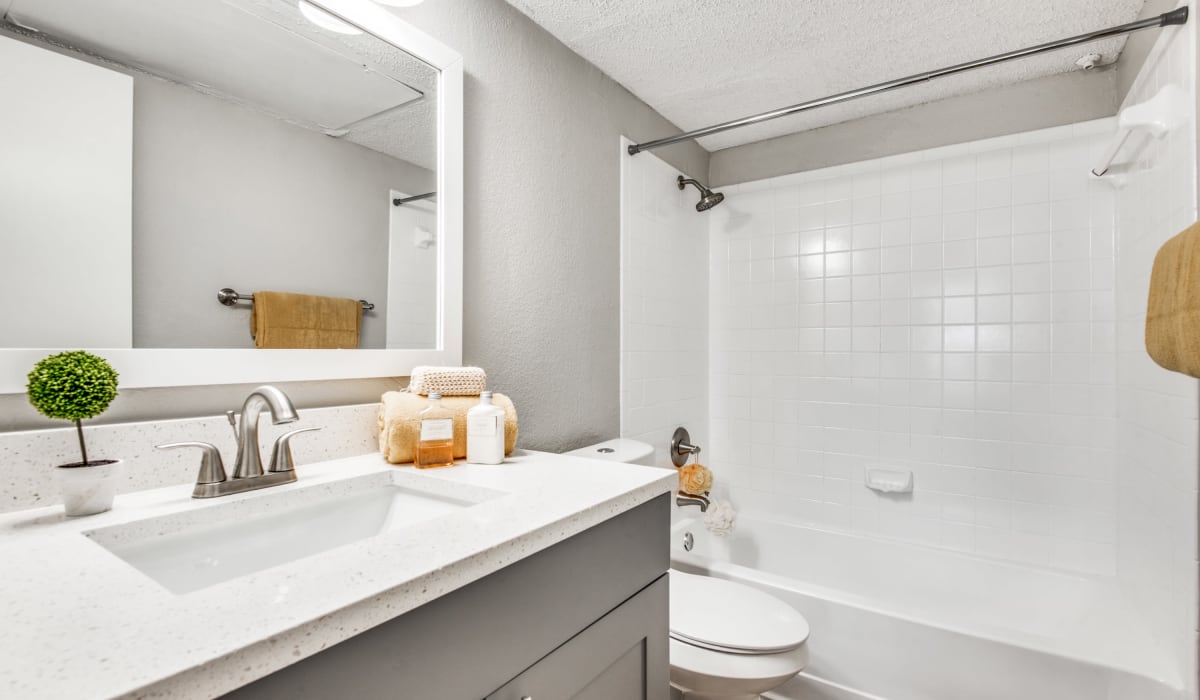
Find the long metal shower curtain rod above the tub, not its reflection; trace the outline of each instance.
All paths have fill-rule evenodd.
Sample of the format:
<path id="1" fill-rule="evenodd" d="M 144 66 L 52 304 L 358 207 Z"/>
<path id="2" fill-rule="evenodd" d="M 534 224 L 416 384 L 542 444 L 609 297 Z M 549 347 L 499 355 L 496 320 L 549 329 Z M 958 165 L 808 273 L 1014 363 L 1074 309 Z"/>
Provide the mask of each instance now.
<path id="1" fill-rule="evenodd" d="M 779 119 L 780 116 L 787 116 L 790 114 L 806 112 L 816 107 L 824 107 L 826 104 L 836 104 L 839 102 L 857 100 L 858 97 L 866 97 L 868 95 L 877 95 L 880 92 L 887 92 L 888 90 L 895 90 L 896 88 L 906 88 L 908 85 L 924 83 L 926 80 L 932 80 L 934 78 L 953 76 L 954 73 L 961 73 L 964 71 L 970 71 L 972 68 L 982 68 L 984 66 L 990 66 L 1003 61 L 1010 61 L 1013 59 L 1022 59 L 1025 56 L 1032 56 L 1036 54 L 1052 52 L 1070 46 L 1088 43 L 1092 41 L 1108 38 L 1110 36 L 1129 34 L 1132 31 L 1138 31 L 1140 29 L 1166 26 L 1169 24 L 1186 24 L 1187 20 L 1188 20 L 1188 8 L 1187 6 L 1184 6 L 1172 10 L 1170 12 L 1164 12 L 1163 14 L 1159 14 L 1157 17 L 1147 17 L 1146 19 L 1139 19 L 1136 22 L 1121 24 L 1118 26 L 1110 26 L 1109 29 L 1100 29 L 1098 31 L 1091 31 L 1069 38 L 1060 38 L 1058 41 L 1039 43 L 1038 46 L 1032 46 L 1028 48 L 996 54 L 994 56 L 988 56 L 985 59 L 967 61 L 965 64 L 956 64 L 953 66 L 937 68 L 935 71 L 928 71 L 924 73 L 917 73 L 914 76 L 908 76 L 907 78 L 896 78 L 894 80 L 888 80 L 886 83 L 877 83 L 875 85 L 869 85 L 866 88 L 859 88 L 858 90 L 839 92 L 836 95 L 830 95 L 828 97 L 821 97 L 820 100 L 800 102 L 799 104 L 792 104 L 791 107 L 784 107 L 781 109 L 774 109 L 772 112 L 763 112 L 762 114 L 755 114 L 754 116 L 743 116 L 742 119 L 734 119 L 733 121 L 725 121 L 722 124 L 706 126 L 704 128 L 697 128 L 695 131 L 688 131 L 676 136 L 668 136 L 666 138 L 648 140 L 646 143 L 635 143 L 629 146 L 629 155 L 636 156 L 643 150 L 649 150 L 652 148 L 659 148 L 664 145 L 671 145 L 673 143 L 679 143 L 680 140 L 691 140 L 704 136 L 712 136 L 714 133 L 720 133 L 722 131 L 728 131 L 731 128 L 750 126 L 751 124 L 758 124 L 760 121 L 768 121 L 770 119 Z"/>

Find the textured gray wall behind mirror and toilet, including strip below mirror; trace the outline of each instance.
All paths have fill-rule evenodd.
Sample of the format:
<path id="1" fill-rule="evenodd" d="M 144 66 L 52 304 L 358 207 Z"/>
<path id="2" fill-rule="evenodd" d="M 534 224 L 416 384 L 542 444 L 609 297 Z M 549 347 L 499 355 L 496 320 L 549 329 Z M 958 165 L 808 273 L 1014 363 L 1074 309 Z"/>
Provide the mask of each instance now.
<path id="1" fill-rule="evenodd" d="M 619 137 L 672 124 L 503 0 L 396 10 L 463 55 L 464 361 L 521 413 L 521 445 L 559 450 L 619 431 Z M 695 144 L 655 151 L 695 175 Z M 377 401 L 396 379 L 288 384 L 300 407 Z M 126 390 L 102 420 L 236 408 L 244 387 Z M 295 397 L 295 395 L 293 396 Z M 298 403 L 299 405 L 299 403 Z M 24 396 L 0 429 L 61 427 Z"/>

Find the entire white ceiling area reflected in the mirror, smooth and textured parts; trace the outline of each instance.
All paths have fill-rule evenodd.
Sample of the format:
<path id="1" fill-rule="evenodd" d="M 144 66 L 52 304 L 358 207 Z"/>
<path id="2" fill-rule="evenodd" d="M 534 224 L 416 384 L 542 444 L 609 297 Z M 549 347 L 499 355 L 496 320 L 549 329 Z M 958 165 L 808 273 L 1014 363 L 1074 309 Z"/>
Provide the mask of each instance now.
<path id="1" fill-rule="evenodd" d="M 85 53 L 434 168 L 437 71 L 302 19 L 341 22 L 310 2 L 10 1 L 8 22 Z"/>

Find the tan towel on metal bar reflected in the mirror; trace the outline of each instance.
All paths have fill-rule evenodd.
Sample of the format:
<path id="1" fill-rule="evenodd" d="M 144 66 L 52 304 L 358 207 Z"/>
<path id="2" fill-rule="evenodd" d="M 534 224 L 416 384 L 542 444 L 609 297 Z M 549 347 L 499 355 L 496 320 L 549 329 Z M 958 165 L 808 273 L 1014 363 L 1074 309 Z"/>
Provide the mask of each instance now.
<path id="1" fill-rule="evenodd" d="M 362 304 L 355 299 L 254 292 L 250 334 L 257 348 L 356 348 Z"/>

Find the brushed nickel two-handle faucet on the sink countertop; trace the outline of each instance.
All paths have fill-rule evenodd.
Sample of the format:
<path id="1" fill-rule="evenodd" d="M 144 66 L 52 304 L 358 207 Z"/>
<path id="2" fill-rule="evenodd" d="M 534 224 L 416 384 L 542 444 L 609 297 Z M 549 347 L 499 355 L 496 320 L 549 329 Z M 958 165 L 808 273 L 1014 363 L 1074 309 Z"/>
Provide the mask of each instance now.
<path id="1" fill-rule="evenodd" d="M 192 490 L 192 498 L 212 498 L 216 496 L 228 496 L 265 489 L 296 480 L 294 461 L 292 459 L 292 437 L 301 432 L 320 430 L 319 427 L 301 427 L 280 436 L 275 441 L 275 449 L 271 453 L 269 469 L 263 472 L 263 456 L 258 451 L 258 418 L 263 409 L 271 412 L 271 423 L 281 425 L 299 420 L 295 406 L 281 389 L 263 384 L 254 388 L 246 396 L 241 405 L 241 419 L 236 425 L 238 433 L 238 457 L 234 461 L 233 478 L 226 478 L 224 463 L 221 460 L 221 451 L 214 444 L 206 442 L 173 442 L 155 445 L 157 449 L 173 449 L 180 447 L 194 447 L 204 450 L 200 457 L 200 472 L 196 478 L 196 489 Z M 229 412 L 230 423 L 233 421 Z"/>

